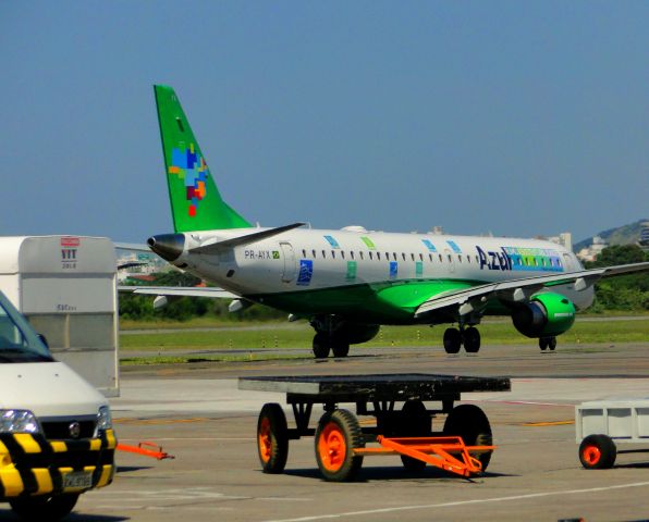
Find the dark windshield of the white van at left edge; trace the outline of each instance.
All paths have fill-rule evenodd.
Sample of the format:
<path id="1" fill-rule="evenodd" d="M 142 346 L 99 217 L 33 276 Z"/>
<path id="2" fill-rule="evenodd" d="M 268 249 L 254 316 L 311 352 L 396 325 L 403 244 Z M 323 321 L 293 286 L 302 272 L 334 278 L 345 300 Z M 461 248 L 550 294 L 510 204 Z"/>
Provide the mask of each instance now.
<path id="1" fill-rule="evenodd" d="M 53 361 L 27 320 L 0 293 L 0 363 Z"/>

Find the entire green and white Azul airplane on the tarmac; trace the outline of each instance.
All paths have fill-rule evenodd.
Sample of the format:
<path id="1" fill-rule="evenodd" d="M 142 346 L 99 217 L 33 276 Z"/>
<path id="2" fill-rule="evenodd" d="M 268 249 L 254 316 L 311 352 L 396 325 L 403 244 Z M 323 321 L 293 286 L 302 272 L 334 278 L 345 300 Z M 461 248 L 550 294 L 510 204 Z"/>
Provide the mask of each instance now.
<path id="1" fill-rule="evenodd" d="M 253 225 L 222 199 L 171 87 L 155 86 L 174 233 L 149 248 L 218 288 L 138 288 L 159 296 L 228 297 L 306 319 L 317 358 L 345 357 L 382 324 L 446 324 L 449 353 L 480 349 L 476 325 L 510 315 L 523 335 L 553 350 L 556 336 L 592 303 L 600 277 L 649 263 L 584 270 L 563 247 L 536 239 L 311 229 Z M 162 298 L 163 299 L 163 298 Z"/>

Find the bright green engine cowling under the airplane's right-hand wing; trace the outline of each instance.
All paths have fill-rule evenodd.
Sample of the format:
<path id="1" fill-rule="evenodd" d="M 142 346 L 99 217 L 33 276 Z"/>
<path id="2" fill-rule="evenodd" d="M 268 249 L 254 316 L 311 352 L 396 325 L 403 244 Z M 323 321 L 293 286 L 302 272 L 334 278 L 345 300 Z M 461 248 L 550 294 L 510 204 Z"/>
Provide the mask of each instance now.
<path id="1" fill-rule="evenodd" d="M 575 306 L 560 294 L 537 294 L 514 310 L 512 321 L 527 337 L 552 337 L 571 328 L 575 322 Z"/>

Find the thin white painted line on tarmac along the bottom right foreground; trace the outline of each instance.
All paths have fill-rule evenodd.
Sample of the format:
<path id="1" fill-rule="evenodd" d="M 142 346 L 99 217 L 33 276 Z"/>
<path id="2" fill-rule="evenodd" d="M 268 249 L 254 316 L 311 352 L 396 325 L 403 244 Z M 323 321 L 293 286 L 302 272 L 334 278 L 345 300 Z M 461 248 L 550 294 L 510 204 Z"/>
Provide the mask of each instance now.
<path id="1" fill-rule="evenodd" d="M 507 502 L 511 500 L 525 500 L 528 498 L 544 498 L 544 497 L 560 496 L 560 495 L 583 495 L 586 493 L 610 492 L 612 489 L 625 489 L 625 488 L 629 488 L 629 487 L 644 487 L 644 486 L 649 486 L 649 482 L 636 482 L 636 483 L 630 483 L 630 484 L 620 484 L 616 486 L 605 486 L 605 487 L 590 487 L 587 489 L 570 489 L 570 490 L 562 490 L 562 492 L 529 493 L 527 495 L 514 495 L 511 497 L 492 497 L 492 498 L 483 498 L 483 499 L 475 499 L 475 500 L 458 500 L 458 501 L 454 501 L 454 502 L 425 504 L 425 505 L 417 505 L 417 506 L 401 506 L 401 507 L 396 507 L 396 508 L 368 509 L 368 510 L 364 510 L 364 511 L 347 511 L 344 513 L 315 514 L 313 517 L 301 517 L 297 519 L 273 519 L 273 520 L 267 520 L 266 522 L 309 522 L 313 520 L 345 519 L 348 517 L 360 517 L 360 515 L 379 514 L 379 513 L 394 513 L 394 512 L 399 512 L 399 511 L 414 511 L 417 509 L 449 508 L 449 507 L 456 507 L 456 506 L 469 506 L 469 505 L 479 505 L 479 504 L 488 504 L 488 502 Z"/>

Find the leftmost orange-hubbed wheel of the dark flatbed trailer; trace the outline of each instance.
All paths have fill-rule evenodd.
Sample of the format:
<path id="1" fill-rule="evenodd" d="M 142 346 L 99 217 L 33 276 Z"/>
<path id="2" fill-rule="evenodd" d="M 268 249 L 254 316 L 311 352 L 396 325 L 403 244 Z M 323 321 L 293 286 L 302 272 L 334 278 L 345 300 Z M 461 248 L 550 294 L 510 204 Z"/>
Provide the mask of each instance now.
<path id="1" fill-rule="evenodd" d="M 289 457 L 286 415 L 277 402 L 261 408 L 257 421 L 257 450 L 264 473 L 281 473 Z"/>

